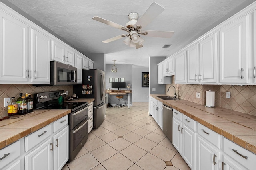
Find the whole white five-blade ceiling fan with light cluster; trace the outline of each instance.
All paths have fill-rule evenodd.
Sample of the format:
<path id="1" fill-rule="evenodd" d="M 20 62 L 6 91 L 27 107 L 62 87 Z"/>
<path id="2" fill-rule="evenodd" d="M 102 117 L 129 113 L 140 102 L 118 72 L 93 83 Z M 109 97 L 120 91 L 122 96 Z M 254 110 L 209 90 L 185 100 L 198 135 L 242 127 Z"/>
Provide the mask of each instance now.
<path id="1" fill-rule="evenodd" d="M 151 30 L 142 31 L 142 27 L 146 27 L 150 22 L 152 22 L 152 20 L 154 20 L 154 18 L 156 18 L 163 11 L 164 11 L 164 8 L 162 6 L 160 6 L 156 2 L 153 2 L 138 21 L 137 21 L 139 16 L 138 13 L 136 12 L 130 13 L 128 15 L 128 18 L 130 19 L 130 21 L 128 21 L 125 24 L 125 27 L 117 23 L 114 23 L 112 21 L 105 20 L 104 18 L 100 18 L 98 16 L 94 16 L 92 19 L 127 32 L 127 34 L 118 35 L 116 37 L 102 41 L 103 43 L 110 43 L 112 41 L 121 39 L 122 37 L 126 37 L 124 39 L 124 43 L 126 45 L 129 45 L 130 47 L 136 47 L 136 49 L 138 49 L 140 47 L 143 47 L 142 43 L 144 42 L 144 39 L 142 39 L 140 35 L 147 35 L 150 37 L 170 38 L 174 34 L 174 32 L 172 31 L 151 31 Z"/>

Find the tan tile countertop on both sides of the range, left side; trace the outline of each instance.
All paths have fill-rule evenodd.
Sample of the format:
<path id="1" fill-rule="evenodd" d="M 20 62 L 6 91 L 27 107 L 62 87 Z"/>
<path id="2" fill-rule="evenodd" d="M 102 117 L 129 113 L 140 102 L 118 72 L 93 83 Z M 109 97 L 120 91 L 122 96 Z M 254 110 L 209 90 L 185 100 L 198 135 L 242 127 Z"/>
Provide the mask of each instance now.
<path id="1" fill-rule="evenodd" d="M 93 102 L 93 98 L 78 99 L 72 102 Z M 70 101 L 64 101 L 70 102 Z M 71 113 L 71 110 L 34 110 L 25 115 L 15 115 L 0 121 L 0 149 L 18 141 L 22 137 L 49 125 Z"/>

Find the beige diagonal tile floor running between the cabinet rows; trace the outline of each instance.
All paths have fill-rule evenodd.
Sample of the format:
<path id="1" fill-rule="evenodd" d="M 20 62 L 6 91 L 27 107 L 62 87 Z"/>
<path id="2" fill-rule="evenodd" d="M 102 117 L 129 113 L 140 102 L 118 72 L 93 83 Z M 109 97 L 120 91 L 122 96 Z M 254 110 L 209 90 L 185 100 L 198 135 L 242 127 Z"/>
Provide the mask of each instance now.
<path id="1" fill-rule="evenodd" d="M 171 161 L 173 166 L 166 166 Z M 190 170 L 162 129 L 148 116 L 147 102 L 107 108 L 106 119 L 75 160 L 62 170 Z"/>

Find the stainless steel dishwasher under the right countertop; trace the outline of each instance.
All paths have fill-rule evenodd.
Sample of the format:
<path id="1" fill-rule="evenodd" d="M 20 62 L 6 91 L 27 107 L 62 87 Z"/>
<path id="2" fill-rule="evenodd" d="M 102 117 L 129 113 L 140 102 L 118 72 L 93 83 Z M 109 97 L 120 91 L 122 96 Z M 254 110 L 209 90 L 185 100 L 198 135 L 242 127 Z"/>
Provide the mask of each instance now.
<path id="1" fill-rule="evenodd" d="M 172 142 L 172 107 L 163 104 L 163 131 Z"/>

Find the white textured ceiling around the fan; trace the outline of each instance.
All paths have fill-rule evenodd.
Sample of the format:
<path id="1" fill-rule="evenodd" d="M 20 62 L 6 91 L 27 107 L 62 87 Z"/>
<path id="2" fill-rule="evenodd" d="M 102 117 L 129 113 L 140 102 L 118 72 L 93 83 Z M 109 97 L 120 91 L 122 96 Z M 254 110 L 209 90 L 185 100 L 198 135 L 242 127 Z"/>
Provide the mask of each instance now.
<path id="1" fill-rule="evenodd" d="M 2 2 L 7 0 L 1 0 Z M 142 48 L 125 45 L 118 39 L 102 41 L 126 34 L 116 28 L 92 20 L 99 16 L 125 25 L 130 12 L 139 17 L 153 1 L 148 0 L 8 0 L 22 11 L 66 39 L 76 49 L 90 53 L 105 53 L 106 64 L 133 64 L 148 67 L 149 56 L 170 56 L 194 39 L 218 25 L 255 0 L 156 0 L 165 8 L 146 28 L 174 31 L 170 39 L 147 37 Z M 165 44 L 172 44 L 163 49 Z"/>

